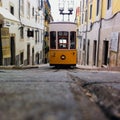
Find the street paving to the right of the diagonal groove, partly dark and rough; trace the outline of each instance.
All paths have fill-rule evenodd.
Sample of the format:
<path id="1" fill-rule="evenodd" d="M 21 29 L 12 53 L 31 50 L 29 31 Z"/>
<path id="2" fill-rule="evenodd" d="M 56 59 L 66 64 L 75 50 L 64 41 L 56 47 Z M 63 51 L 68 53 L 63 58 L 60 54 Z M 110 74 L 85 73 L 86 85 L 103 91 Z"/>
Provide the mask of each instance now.
<path id="1" fill-rule="evenodd" d="M 120 72 L 81 71 L 71 73 L 111 120 L 120 120 Z"/>

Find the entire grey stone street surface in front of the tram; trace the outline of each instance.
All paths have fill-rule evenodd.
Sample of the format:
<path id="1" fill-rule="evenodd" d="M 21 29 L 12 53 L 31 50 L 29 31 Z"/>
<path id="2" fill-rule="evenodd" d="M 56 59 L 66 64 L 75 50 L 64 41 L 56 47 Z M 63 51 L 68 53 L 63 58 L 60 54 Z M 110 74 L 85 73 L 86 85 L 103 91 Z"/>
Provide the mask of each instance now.
<path id="1" fill-rule="evenodd" d="M 0 120 L 117 120 L 119 93 L 118 72 L 1 69 Z"/>

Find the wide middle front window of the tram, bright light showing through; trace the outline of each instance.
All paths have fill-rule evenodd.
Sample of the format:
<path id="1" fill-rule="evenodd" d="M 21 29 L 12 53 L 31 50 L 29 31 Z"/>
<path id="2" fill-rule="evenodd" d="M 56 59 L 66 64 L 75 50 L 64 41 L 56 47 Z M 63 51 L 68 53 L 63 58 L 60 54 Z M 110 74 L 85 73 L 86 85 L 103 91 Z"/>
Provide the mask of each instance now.
<path id="1" fill-rule="evenodd" d="M 68 49 L 68 32 L 58 32 L 58 48 Z"/>

